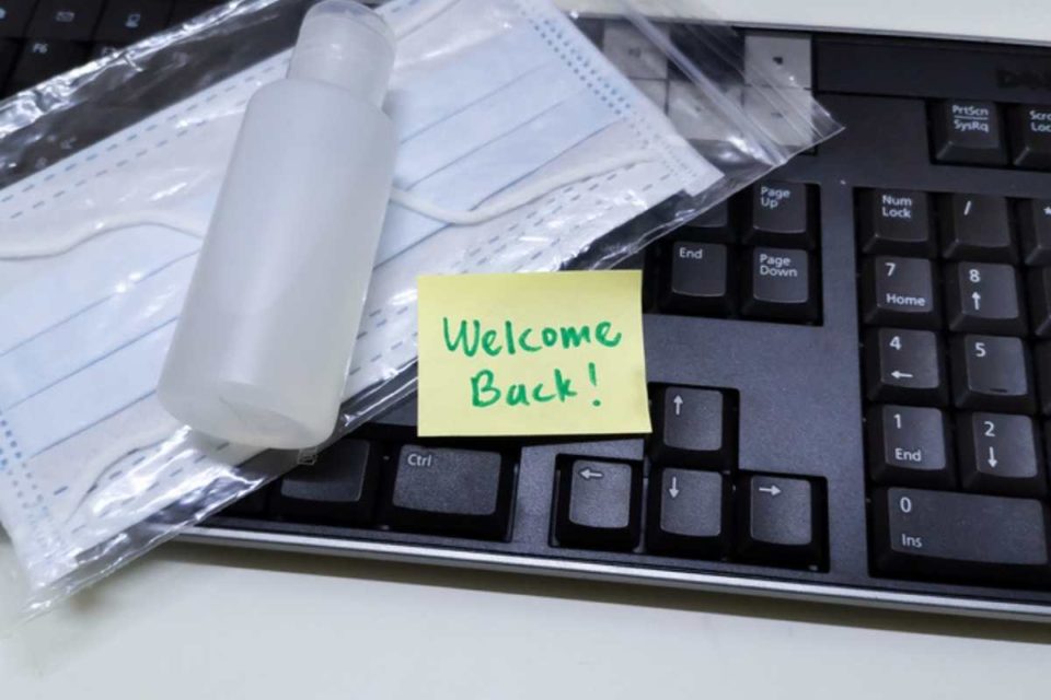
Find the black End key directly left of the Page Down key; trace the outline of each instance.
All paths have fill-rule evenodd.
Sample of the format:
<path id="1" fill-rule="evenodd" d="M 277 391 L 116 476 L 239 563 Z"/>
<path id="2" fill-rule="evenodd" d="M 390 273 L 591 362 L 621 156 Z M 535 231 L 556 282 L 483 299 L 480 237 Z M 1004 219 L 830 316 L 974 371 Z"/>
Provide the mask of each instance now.
<path id="1" fill-rule="evenodd" d="M 735 306 L 729 252 L 718 243 L 671 244 L 660 307 L 685 314 L 729 314 Z"/>

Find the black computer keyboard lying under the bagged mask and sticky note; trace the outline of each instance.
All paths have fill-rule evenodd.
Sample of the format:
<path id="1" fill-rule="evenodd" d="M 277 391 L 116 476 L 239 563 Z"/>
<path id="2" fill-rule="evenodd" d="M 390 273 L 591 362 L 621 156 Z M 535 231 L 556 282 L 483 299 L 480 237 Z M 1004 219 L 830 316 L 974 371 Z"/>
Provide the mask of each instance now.
<path id="1" fill-rule="evenodd" d="M 0 8 L 8 93 L 203 9 Z M 585 28 L 703 144 L 611 26 Z M 409 401 L 187 538 L 1051 617 L 1051 49 L 741 42 L 846 130 L 626 264 L 651 435 L 421 440 Z"/>

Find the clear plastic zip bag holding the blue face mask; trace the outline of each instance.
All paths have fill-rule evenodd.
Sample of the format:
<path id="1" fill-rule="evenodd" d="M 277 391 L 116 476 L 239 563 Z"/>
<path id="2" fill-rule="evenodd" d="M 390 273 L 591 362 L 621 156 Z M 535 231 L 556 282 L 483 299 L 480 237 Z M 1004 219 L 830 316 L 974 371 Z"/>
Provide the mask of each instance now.
<path id="1" fill-rule="evenodd" d="M 693 3 L 674 35 L 633 0 L 561 4 L 381 9 L 402 147 L 333 439 L 414 389 L 418 275 L 611 267 L 839 130 Z M 155 400 L 244 103 L 284 74 L 303 9 L 231 2 L 0 103 L 0 521 L 30 610 L 309 457 Z"/>

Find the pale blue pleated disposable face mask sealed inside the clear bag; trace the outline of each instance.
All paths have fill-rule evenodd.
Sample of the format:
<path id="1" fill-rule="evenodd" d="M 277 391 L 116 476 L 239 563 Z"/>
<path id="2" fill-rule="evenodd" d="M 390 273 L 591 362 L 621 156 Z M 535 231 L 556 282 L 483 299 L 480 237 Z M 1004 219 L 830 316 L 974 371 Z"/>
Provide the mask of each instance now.
<path id="1" fill-rule="evenodd" d="M 382 12 L 400 35 L 388 112 L 401 203 L 347 397 L 414 361 L 418 275 L 557 269 L 721 178 L 547 0 Z M 287 62 L 0 191 L 0 258 L 53 254 L 0 290 L 0 517 L 34 583 L 253 452 L 182 429 L 154 389 L 244 103 Z"/>

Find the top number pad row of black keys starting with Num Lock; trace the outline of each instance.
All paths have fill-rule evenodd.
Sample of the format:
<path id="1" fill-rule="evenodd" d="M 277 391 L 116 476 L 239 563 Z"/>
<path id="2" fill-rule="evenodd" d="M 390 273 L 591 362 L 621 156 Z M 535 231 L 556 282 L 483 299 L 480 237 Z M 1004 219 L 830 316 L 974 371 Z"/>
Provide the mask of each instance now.
<path id="1" fill-rule="evenodd" d="M 867 255 L 940 250 L 949 260 L 1051 264 L 1051 199 L 868 189 L 858 196 L 857 224 Z"/>

